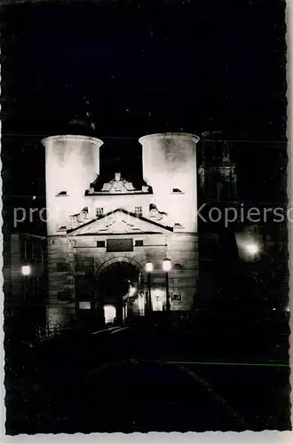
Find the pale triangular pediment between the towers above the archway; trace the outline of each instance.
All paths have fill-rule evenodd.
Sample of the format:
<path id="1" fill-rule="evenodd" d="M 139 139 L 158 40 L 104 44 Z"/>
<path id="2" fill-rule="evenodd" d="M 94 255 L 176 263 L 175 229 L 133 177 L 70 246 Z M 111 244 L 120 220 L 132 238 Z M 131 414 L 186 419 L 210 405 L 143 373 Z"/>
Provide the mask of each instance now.
<path id="1" fill-rule="evenodd" d="M 95 218 L 78 226 L 67 233 L 79 236 L 89 234 L 139 234 L 139 233 L 170 233 L 172 228 L 162 226 L 152 220 L 136 217 L 135 214 L 123 209 L 107 213 L 102 218 Z"/>

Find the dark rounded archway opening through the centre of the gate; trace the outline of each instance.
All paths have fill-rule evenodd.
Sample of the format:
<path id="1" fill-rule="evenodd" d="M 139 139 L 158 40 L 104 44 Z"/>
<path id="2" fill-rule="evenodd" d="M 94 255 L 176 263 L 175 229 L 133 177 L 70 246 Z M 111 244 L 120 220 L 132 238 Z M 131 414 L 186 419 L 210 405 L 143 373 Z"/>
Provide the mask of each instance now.
<path id="1" fill-rule="evenodd" d="M 126 312 L 123 307 L 123 297 L 133 291 L 139 291 L 139 284 L 141 283 L 141 273 L 139 266 L 135 266 L 131 262 L 123 260 L 116 260 L 106 266 L 98 277 L 98 298 L 99 305 L 107 307 L 113 306 L 115 308 L 117 321 L 123 321 Z M 107 316 L 104 312 L 104 321 L 107 322 Z"/>

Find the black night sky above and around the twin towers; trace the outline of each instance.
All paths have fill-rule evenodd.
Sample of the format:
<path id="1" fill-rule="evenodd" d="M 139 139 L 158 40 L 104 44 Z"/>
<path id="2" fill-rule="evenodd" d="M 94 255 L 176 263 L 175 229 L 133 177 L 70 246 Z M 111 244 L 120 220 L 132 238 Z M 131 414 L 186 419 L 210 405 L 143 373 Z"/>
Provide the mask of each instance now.
<path id="1" fill-rule="evenodd" d="M 284 13 L 275 0 L 4 7 L 4 193 L 44 195 L 40 140 L 90 110 L 106 173 L 115 163 L 139 174 L 144 134 L 221 130 L 238 141 L 245 197 L 277 199 L 287 161 Z"/>

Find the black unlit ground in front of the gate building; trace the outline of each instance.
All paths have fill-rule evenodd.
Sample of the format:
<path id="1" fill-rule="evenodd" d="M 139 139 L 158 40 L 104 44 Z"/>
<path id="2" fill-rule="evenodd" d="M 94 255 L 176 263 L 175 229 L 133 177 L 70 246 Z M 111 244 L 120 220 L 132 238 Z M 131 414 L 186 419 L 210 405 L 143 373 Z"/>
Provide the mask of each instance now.
<path id="1" fill-rule="evenodd" d="M 217 331 L 132 324 L 11 345 L 6 432 L 291 430 L 287 339 Z"/>

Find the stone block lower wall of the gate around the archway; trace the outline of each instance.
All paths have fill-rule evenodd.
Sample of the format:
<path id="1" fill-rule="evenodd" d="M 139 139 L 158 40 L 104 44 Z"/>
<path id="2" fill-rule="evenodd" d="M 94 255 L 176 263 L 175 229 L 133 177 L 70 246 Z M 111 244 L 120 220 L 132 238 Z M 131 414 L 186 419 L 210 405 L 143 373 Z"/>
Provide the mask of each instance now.
<path id="1" fill-rule="evenodd" d="M 125 234 L 129 236 L 129 234 Z M 105 236 L 107 238 L 107 236 Z M 111 236 L 113 237 L 113 236 Z M 137 266 L 142 278 L 142 289 L 147 292 L 145 266 L 151 261 L 153 305 L 166 303 L 165 273 L 162 260 L 170 258 L 169 273 L 171 310 L 190 310 L 197 291 L 198 282 L 198 236 L 196 234 L 139 234 L 143 246 L 133 251 L 107 252 L 97 248 L 100 236 L 80 236 L 73 241 L 67 235 L 52 236 L 48 243 L 48 273 L 50 305 L 48 321 L 51 326 L 66 326 L 75 313 L 75 291 L 80 295 L 94 292 L 99 274 L 116 261 L 129 261 Z M 75 278 L 75 266 L 80 276 Z M 91 270 L 89 267 L 92 267 Z M 89 277 L 90 276 L 90 277 Z M 79 283 L 78 283 L 79 282 Z M 78 288 L 75 289 L 75 284 Z M 83 289 L 84 287 L 84 289 Z M 83 297 L 84 298 L 84 297 Z"/>

